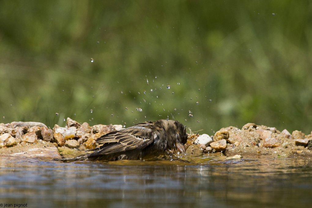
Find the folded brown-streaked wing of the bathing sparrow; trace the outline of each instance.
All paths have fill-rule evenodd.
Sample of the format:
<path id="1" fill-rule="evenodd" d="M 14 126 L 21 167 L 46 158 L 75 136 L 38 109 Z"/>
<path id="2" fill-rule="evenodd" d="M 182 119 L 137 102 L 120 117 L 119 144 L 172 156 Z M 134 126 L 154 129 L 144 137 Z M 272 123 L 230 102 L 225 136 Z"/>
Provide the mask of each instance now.
<path id="1" fill-rule="evenodd" d="M 150 128 L 138 125 L 118 132 L 105 134 L 98 138 L 96 143 L 103 144 L 99 148 L 99 153 L 110 154 L 142 149 L 151 144 L 155 137 L 156 134 Z"/>

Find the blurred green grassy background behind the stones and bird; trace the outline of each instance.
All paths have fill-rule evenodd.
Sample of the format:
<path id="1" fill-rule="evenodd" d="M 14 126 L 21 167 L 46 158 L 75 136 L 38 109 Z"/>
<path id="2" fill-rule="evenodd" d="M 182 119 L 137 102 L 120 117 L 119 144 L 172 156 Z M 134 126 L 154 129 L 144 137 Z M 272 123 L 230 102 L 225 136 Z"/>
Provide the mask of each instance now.
<path id="1" fill-rule="evenodd" d="M 0 116 L 308 134 L 311 49 L 311 1 L 4 0 Z"/>

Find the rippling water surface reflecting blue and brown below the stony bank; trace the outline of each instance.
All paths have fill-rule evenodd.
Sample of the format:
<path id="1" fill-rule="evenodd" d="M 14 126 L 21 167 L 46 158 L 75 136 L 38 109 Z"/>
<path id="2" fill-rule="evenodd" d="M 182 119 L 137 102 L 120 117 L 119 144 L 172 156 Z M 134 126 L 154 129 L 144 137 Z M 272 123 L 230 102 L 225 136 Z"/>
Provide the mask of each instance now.
<path id="1" fill-rule="evenodd" d="M 191 160 L 194 163 L 1 159 L 0 206 L 310 207 L 310 159 Z"/>

